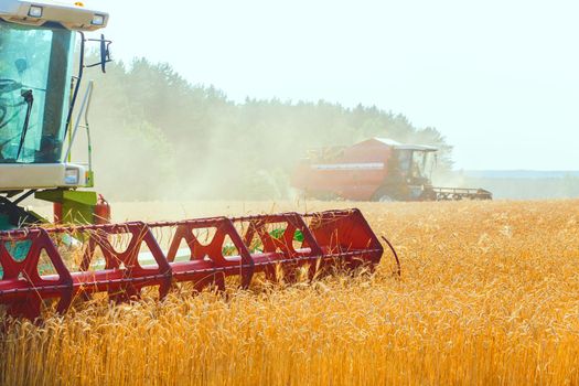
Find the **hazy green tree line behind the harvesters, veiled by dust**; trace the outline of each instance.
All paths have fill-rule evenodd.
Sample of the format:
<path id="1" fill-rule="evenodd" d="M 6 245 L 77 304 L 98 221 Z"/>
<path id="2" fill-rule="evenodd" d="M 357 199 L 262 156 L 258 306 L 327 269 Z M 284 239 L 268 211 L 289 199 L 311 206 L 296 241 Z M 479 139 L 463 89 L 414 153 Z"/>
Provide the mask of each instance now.
<path id="1" fill-rule="evenodd" d="M 97 190 L 115 200 L 281 200 L 308 149 L 372 137 L 452 148 L 435 128 L 401 114 L 324 100 L 247 98 L 194 85 L 169 64 L 135 60 L 89 73 L 96 87 L 90 128 Z M 85 153 L 83 140 L 76 146 Z"/>

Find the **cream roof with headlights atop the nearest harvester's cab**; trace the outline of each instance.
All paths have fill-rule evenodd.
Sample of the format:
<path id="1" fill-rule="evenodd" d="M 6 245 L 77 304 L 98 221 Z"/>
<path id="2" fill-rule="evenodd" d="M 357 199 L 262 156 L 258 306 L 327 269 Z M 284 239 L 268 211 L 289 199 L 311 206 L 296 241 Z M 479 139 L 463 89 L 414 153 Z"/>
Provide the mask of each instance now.
<path id="1" fill-rule="evenodd" d="M 108 23 L 108 13 L 85 8 L 81 1 L 0 0 L 0 19 L 29 25 L 58 23 L 68 30 L 96 31 Z"/>

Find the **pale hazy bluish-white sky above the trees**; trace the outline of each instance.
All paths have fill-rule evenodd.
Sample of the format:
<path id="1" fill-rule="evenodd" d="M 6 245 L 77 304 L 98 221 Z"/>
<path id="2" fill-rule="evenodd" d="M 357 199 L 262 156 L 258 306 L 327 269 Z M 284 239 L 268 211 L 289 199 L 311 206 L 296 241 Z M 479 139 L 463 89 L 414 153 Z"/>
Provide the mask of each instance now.
<path id="1" fill-rule="evenodd" d="M 458 169 L 579 169 L 579 1 L 93 0 L 114 56 L 246 96 L 376 105 Z"/>

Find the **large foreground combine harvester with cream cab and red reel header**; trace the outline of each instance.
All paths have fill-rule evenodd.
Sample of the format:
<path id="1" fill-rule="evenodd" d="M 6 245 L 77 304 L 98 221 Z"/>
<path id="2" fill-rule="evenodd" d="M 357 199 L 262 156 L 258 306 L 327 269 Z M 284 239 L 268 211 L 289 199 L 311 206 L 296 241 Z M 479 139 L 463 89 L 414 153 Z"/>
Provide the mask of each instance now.
<path id="1" fill-rule="evenodd" d="M 34 320 L 44 304 L 64 312 L 98 292 L 121 302 L 156 288 L 162 299 L 182 282 L 247 288 L 257 275 L 291 282 L 379 262 L 383 247 L 357 210 L 108 224 L 106 201 L 81 190 L 94 181 L 92 83 L 79 97 L 84 69 L 109 62 L 110 42 L 84 33 L 108 19 L 81 2 L 0 0 L 0 308 Z M 88 43 L 100 46 L 98 63 L 85 64 Z M 79 132 L 88 164 L 71 161 Z M 21 206 L 32 195 L 54 204 L 56 225 Z"/>

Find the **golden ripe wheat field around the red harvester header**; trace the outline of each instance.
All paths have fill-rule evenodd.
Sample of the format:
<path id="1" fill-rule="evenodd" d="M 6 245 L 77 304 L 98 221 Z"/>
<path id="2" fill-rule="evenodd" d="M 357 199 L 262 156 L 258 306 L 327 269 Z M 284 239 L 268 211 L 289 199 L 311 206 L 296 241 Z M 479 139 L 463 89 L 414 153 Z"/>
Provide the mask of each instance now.
<path id="1" fill-rule="evenodd" d="M 354 279 L 95 301 L 0 333 L 0 384 L 579 384 L 579 201 L 356 206 L 397 248 L 401 278 L 385 253 L 375 275 Z M 114 210 L 154 219 L 294 207 Z"/>

